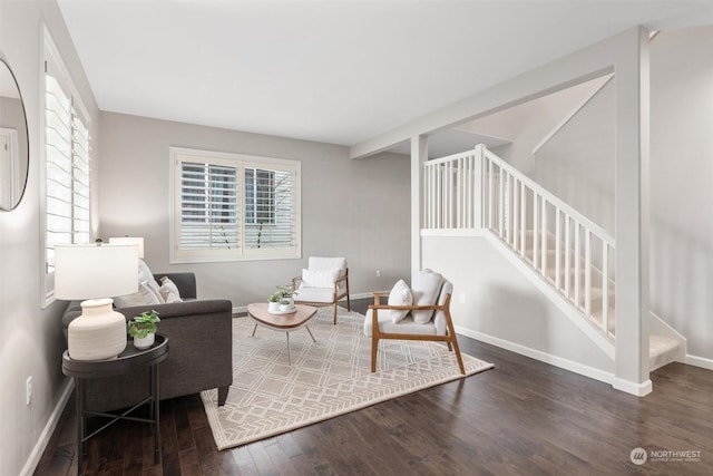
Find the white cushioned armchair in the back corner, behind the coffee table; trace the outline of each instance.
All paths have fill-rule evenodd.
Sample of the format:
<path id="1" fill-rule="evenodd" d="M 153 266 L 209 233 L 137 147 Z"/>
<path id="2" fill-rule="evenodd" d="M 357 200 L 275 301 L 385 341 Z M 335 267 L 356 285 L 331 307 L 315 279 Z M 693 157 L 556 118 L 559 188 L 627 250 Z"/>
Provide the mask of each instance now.
<path id="1" fill-rule="evenodd" d="M 352 310 L 349 299 L 349 268 L 345 258 L 310 256 L 307 269 L 293 278 L 296 291 L 294 302 L 309 305 L 332 305 L 336 324 L 336 305 L 346 298 L 346 310 Z"/>

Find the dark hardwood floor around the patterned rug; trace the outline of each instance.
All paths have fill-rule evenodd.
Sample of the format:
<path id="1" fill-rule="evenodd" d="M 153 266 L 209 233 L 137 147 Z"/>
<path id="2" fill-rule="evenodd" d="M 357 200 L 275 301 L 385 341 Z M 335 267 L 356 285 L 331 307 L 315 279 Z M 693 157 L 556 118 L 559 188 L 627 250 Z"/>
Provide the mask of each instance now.
<path id="1" fill-rule="evenodd" d="M 653 372 L 654 392 L 637 398 L 472 339 L 459 343 L 495 369 L 223 451 L 197 395 L 164 400 L 162 464 L 153 464 L 148 426 L 119 422 L 90 440 L 85 474 L 713 474 L 712 371 L 668 365 Z M 72 398 L 37 475 L 76 474 L 75 425 Z M 643 465 L 631 460 L 637 447 L 647 451 Z"/>

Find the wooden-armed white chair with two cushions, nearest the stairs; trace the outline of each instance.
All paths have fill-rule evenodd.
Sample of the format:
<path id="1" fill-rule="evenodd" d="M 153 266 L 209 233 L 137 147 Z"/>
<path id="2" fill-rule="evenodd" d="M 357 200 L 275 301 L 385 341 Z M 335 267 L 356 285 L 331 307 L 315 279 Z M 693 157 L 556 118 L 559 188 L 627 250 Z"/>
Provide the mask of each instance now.
<path id="1" fill-rule="evenodd" d="M 389 294 L 389 303 L 382 304 L 385 292 L 374 293 L 374 303 L 364 319 L 364 334 L 371 337 L 371 371 L 377 371 L 379 340 L 429 340 L 446 342 L 456 353 L 458 367 L 466 375 L 450 315 L 450 298 L 453 285 L 440 274 L 421 271 L 409 289 L 399 281 Z"/>

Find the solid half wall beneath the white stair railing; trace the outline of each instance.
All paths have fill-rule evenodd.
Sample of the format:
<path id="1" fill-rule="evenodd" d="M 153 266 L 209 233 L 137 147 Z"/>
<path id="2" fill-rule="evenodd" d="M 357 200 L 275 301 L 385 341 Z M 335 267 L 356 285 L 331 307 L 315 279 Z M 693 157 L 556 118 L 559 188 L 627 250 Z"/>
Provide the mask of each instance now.
<path id="1" fill-rule="evenodd" d="M 422 243 L 423 268 L 453 283 L 451 312 L 461 332 L 600 378 L 613 375 L 613 360 L 486 239 L 426 236 Z"/>

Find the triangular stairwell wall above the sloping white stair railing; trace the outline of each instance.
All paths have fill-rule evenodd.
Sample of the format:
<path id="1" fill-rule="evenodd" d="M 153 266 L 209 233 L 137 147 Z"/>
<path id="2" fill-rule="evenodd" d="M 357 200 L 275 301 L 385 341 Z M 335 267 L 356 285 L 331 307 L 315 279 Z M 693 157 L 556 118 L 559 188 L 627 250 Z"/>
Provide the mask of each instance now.
<path id="1" fill-rule="evenodd" d="M 540 149 L 533 148 L 589 97 L 600 78 L 519 104 L 463 126 L 507 137 L 492 150 L 614 235 L 614 85 L 609 81 Z"/>

